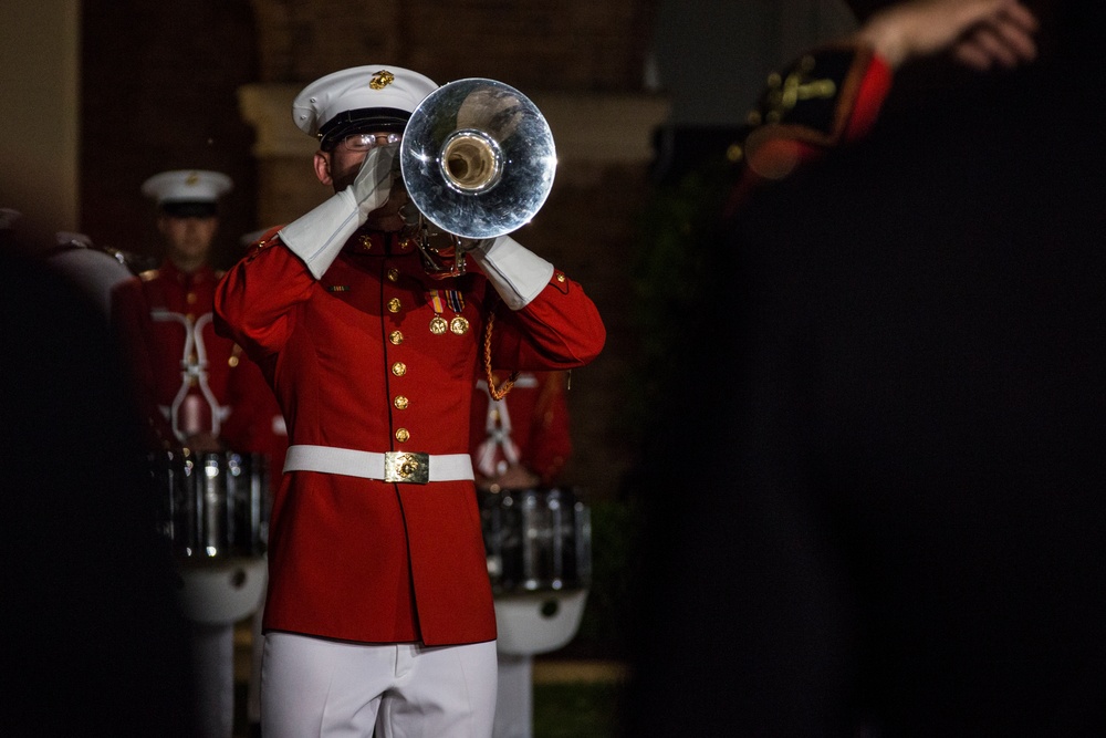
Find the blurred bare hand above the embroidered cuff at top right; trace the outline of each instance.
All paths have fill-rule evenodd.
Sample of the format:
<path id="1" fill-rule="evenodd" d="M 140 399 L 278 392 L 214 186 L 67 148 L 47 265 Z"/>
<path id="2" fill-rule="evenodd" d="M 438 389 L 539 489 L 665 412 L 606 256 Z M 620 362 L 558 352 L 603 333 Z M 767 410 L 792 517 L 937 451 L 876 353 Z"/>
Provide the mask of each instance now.
<path id="1" fill-rule="evenodd" d="M 1037 20 L 1019 0 L 910 0 L 874 14 L 857 31 L 893 69 L 950 53 L 979 71 L 1036 58 Z"/>

